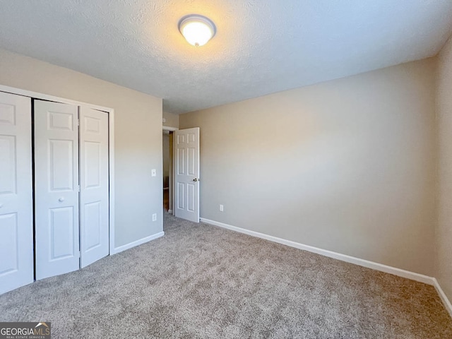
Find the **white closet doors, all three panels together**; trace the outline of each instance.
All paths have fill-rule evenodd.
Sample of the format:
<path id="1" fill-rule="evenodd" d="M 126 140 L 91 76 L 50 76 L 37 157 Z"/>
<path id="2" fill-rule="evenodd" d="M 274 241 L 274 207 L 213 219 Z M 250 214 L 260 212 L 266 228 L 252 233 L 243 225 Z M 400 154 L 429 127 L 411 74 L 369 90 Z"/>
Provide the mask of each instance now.
<path id="1" fill-rule="evenodd" d="M 0 293 L 109 254 L 109 113 L 0 92 Z"/>

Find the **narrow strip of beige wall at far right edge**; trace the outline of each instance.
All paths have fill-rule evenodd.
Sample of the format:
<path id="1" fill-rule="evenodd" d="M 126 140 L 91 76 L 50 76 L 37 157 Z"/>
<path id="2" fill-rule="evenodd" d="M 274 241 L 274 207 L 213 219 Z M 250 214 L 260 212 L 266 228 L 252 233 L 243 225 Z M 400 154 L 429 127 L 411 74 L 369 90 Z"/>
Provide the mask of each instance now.
<path id="1" fill-rule="evenodd" d="M 452 301 L 452 38 L 438 58 L 436 112 L 439 126 L 436 278 Z"/>

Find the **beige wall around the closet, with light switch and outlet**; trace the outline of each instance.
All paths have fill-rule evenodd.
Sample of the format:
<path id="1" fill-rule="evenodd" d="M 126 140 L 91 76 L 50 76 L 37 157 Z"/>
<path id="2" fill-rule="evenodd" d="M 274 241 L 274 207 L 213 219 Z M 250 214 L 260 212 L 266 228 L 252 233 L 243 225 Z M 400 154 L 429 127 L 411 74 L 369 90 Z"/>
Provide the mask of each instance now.
<path id="1" fill-rule="evenodd" d="M 161 99 L 1 49 L 0 84 L 113 108 L 115 246 L 162 231 Z"/>

